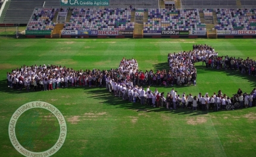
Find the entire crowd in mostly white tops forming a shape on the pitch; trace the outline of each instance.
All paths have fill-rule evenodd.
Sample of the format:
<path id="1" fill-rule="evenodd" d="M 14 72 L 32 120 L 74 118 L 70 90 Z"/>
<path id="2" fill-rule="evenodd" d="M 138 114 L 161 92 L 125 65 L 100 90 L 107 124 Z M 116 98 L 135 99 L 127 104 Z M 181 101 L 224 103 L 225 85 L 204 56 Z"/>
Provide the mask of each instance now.
<path id="1" fill-rule="evenodd" d="M 7 72 L 7 83 L 10 88 L 27 91 L 49 91 L 68 86 L 105 86 L 110 94 L 120 96 L 123 100 L 130 102 L 139 101 L 141 104 L 149 104 L 160 107 L 166 104 L 167 108 L 202 108 L 217 111 L 223 105 L 239 102 L 239 106 L 252 107 L 255 105 L 256 90 L 249 94 L 238 93 L 234 97 L 227 97 L 221 91 L 213 95 L 202 95 L 197 97 L 191 94 L 177 94 L 174 89 L 164 97 L 163 92 L 155 88 L 151 91 L 151 85 L 196 85 L 196 68 L 194 63 L 202 62 L 206 68 L 232 69 L 242 73 L 255 75 L 255 61 L 252 59 L 236 59 L 235 57 L 218 56 L 214 48 L 204 45 L 193 45 L 193 50 L 188 52 L 169 53 L 168 64 L 170 69 L 150 71 L 139 71 L 136 59 L 123 57 L 117 69 L 99 70 L 86 69 L 75 71 L 72 68 L 58 65 L 23 65 L 21 68 Z M 142 86 L 148 86 L 146 90 Z M 177 103 L 179 102 L 179 103 Z M 180 104 L 180 105 L 177 105 Z M 215 105 L 216 104 L 216 105 Z M 217 107 L 216 107 L 217 106 Z M 225 108 L 225 107 L 222 107 Z M 235 108 L 235 107 L 232 107 Z M 193 108 L 195 110 L 195 108 Z"/>

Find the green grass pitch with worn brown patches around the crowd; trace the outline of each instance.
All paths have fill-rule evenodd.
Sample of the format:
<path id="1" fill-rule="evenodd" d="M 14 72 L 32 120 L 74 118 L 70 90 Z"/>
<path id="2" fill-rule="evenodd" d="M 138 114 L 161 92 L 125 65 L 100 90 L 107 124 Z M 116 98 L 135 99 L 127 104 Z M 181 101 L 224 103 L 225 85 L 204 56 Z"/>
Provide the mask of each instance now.
<path id="1" fill-rule="evenodd" d="M 7 87 L 6 73 L 22 65 L 62 65 L 79 69 L 117 68 L 123 57 L 138 60 L 139 69 L 168 69 L 167 54 L 208 44 L 219 55 L 256 60 L 255 39 L 0 39 L 0 156 L 22 156 L 8 136 L 14 111 L 30 101 L 49 102 L 67 121 L 67 138 L 54 156 L 254 156 L 255 107 L 235 111 L 191 111 L 151 108 L 122 101 L 105 88 L 66 88 L 26 92 Z M 227 95 L 250 92 L 256 76 L 205 69 L 196 63 L 196 86 L 174 86 L 182 92 Z M 152 86 L 170 92 L 163 86 Z M 45 110 L 31 109 L 17 121 L 24 148 L 42 152 L 57 140 L 58 121 Z M 47 134 L 51 133 L 51 134 Z"/>

